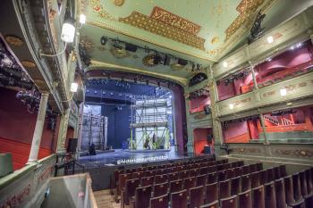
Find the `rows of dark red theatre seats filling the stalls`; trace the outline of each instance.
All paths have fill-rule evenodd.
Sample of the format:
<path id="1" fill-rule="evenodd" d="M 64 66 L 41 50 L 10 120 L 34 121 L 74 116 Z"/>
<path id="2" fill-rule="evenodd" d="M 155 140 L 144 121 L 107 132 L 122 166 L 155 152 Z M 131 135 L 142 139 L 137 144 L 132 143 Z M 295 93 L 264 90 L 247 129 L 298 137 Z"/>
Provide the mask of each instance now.
<path id="1" fill-rule="evenodd" d="M 313 168 L 288 176 L 284 165 L 212 161 L 114 172 L 121 208 L 312 208 Z"/>

